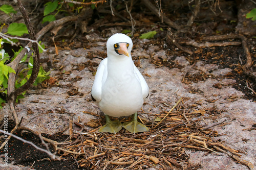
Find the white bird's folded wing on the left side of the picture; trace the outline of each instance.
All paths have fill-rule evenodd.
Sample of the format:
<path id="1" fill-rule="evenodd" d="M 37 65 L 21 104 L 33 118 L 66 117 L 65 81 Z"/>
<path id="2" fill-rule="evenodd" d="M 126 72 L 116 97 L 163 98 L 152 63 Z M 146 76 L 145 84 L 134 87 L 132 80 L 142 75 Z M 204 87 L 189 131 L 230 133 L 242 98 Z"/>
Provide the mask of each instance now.
<path id="1" fill-rule="evenodd" d="M 104 81 L 106 80 L 106 76 L 108 75 L 107 65 L 108 58 L 105 58 L 100 62 L 94 78 L 91 94 L 96 102 L 101 101 L 102 83 L 104 83 Z"/>

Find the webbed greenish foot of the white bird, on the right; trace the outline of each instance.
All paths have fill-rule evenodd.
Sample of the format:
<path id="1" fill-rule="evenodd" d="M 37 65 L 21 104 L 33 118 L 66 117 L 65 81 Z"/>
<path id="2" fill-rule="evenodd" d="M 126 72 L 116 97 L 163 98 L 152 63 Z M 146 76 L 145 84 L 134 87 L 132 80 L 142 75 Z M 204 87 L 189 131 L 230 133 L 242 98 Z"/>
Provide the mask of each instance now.
<path id="1" fill-rule="evenodd" d="M 137 120 L 137 112 L 133 114 L 131 122 L 124 122 L 122 124 L 123 128 L 131 133 L 138 133 L 138 132 L 148 132 L 149 129 L 138 122 Z"/>

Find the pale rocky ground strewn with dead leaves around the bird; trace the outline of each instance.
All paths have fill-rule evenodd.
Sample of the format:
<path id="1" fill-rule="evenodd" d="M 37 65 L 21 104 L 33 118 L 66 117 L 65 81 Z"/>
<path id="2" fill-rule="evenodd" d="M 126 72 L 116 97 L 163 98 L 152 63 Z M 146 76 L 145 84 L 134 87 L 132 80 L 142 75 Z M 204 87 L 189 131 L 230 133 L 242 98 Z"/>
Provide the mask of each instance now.
<path id="1" fill-rule="evenodd" d="M 251 23 L 242 18 L 246 9 L 244 6 L 243 8 L 239 7 L 238 16 L 232 16 L 238 18 L 236 27 L 221 19 L 216 21 L 219 29 L 222 28 L 223 33 L 235 29 L 237 33 L 253 35 L 253 30 L 244 29 L 245 21 L 248 22 L 246 28 L 249 27 L 249 24 L 255 25 L 255 21 Z M 227 13 L 223 12 L 222 14 L 227 15 Z M 229 20 L 232 19 L 229 18 Z M 214 24 L 213 22 L 205 23 L 207 26 L 203 26 L 204 23 L 201 23 L 200 28 L 205 32 L 207 30 L 212 32 L 210 28 L 211 24 Z M 196 26 L 194 28 L 200 29 Z M 226 29 L 228 31 L 225 31 Z M 51 78 L 28 90 L 25 98 L 16 104 L 18 117 L 23 117 L 22 125 L 47 134 L 49 137 L 54 136 L 54 140 L 58 141 L 63 141 L 66 139 L 65 137 L 68 137 L 65 135 L 69 135 L 70 120 L 83 125 L 84 132 L 99 127 L 99 122 L 102 123 L 103 120 L 95 114 L 102 115 L 102 112 L 92 101 L 90 94 L 94 74 L 100 61 L 106 57 L 107 38 L 122 30 L 122 27 L 110 27 L 103 29 L 101 33 L 98 30 L 91 31 L 83 36 L 78 36 L 72 43 L 57 40 L 58 55 L 56 55 L 52 42 L 47 40 L 51 36 L 48 34 L 43 39 L 47 46 L 47 52 L 42 53 L 40 57 L 49 57 L 51 66 L 47 63 L 42 63 L 42 66 L 46 70 L 51 70 Z M 209 35 L 211 34 L 213 33 L 209 33 Z M 222 124 L 211 128 L 218 132 L 218 136 L 214 136 L 213 141 L 221 142 L 239 151 L 242 159 L 251 162 L 256 167 L 256 95 L 248 89 L 248 83 L 246 84 L 246 82 L 250 82 L 252 87 L 253 85 L 255 87 L 255 80 L 241 74 L 240 67 L 237 66 L 246 62 L 243 47 L 195 48 L 187 46 L 194 52 L 193 55 L 188 55 L 169 42 L 166 38 L 166 30 L 159 31 L 150 40 L 140 39 L 138 36 L 134 36 L 132 39 L 134 42 L 133 59 L 150 87 L 150 95 L 139 114 L 145 119 L 154 119 L 156 114 L 169 111 L 180 98 L 183 98 L 183 106 L 188 108 L 187 113 L 197 110 L 205 111 L 205 114 L 195 118 L 199 126 L 209 127 L 222 122 Z M 252 60 L 254 60 L 255 42 L 250 36 L 247 40 Z M 12 117 L 8 105 L 1 109 L 1 116 L 3 115 Z M 89 125 L 92 119 L 96 122 L 95 127 Z M 75 125 L 73 125 L 73 129 L 81 130 Z M 32 140 L 33 135 L 29 136 L 25 133 L 26 135 L 30 138 L 29 140 Z M 38 143 L 39 139 L 33 139 L 33 141 Z M 13 139 L 13 142 L 17 144 L 18 141 Z M 44 147 L 40 142 L 38 145 Z M 12 147 L 10 147 L 11 149 Z M 19 150 L 16 148 L 16 150 L 26 153 L 27 148 L 19 148 Z M 71 167 L 71 164 L 73 165 L 75 162 L 69 159 L 66 164 L 62 165 L 63 161 L 52 161 L 54 165 L 49 164 L 46 168 L 42 164 L 46 165 L 47 161 L 43 163 L 39 161 L 39 159 L 47 157 L 46 155 L 33 158 L 36 151 L 31 151 L 27 156 L 29 161 L 25 161 L 27 157 L 18 158 L 17 151 L 16 154 L 13 151 L 11 157 L 14 157 L 13 161 L 19 165 L 6 169 L 29 169 L 34 161 L 34 169 L 58 169 L 58 165 L 62 169 L 66 169 L 66 166 Z M 220 152 L 216 154 L 184 149 L 184 154 L 187 155 L 189 165 L 194 167 L 191 169 L 249 169 L 248 166 Z M 189 169 L 184 162 L 179 160 L 178 162 L 181 167 L 173 166 L 173 169 Z M 77 166 L 74 166 L 75 168 Z M 126 166 L 119 168 L 129 169 Z M 83 168 L 80 167 L 80 169 Z M 147 169 L 163 169 L 163 167 L 158 164 L 151 168 L 147 167 Z"/>

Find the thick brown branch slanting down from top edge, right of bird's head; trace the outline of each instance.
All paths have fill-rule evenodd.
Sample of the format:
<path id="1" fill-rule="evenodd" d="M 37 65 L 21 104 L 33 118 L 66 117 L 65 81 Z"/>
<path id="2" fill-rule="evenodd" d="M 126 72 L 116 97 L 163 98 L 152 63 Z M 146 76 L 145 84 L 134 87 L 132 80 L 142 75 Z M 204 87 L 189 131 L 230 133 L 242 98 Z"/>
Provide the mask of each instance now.
<path id="1" fill-rule="evenodd" d="M 152 11 L 157 17 L 159 17 L 161 20 L 163 20 L 168 26 L 178 30 L 179 26 L 176 25 L 175 22 L 171 21 L 168 17 L 166 17 L 165 15 L 163 15 L 163 13 L 159 13 L 159 11 L 157 10 L 157 8 L 148 0 L 142 0 L 143 4 L 150 9 L 150 11 Z"/>

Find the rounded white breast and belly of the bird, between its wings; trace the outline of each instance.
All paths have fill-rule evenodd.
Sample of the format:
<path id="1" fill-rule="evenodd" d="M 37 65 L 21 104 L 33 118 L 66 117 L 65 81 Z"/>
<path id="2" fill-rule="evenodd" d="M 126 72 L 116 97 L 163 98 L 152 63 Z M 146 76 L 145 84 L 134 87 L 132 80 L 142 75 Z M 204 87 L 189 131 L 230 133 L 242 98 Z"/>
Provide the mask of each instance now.
<path id="1" fill-rule="evenodd" d="M 102 84 L 100 109 L 110 116 L 128 116 L 143 104 L 140 81 L 135 76 L 133 61 L 125 64 L 108 62 L 108 76 Z"/>

